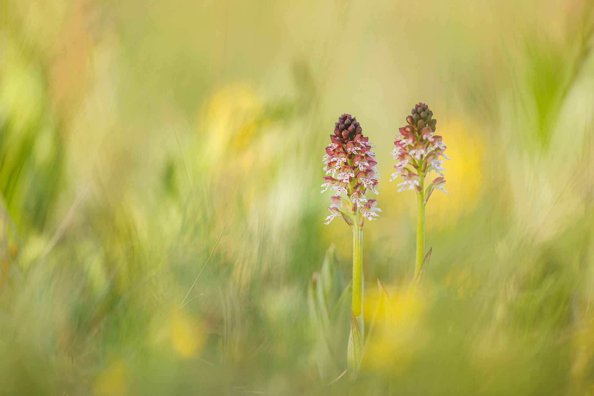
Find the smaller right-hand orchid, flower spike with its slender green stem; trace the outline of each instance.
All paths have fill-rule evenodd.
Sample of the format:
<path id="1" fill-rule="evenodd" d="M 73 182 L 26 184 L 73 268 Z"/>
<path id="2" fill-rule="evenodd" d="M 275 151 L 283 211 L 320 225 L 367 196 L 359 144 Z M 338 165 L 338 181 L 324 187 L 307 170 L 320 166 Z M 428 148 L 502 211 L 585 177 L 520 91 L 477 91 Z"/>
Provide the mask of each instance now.
<path id="1" fill-rule="evenodd" d="M 399 183 L 401 188 L 415 190 L 417 196 L 417 234 L 416 234 L 416 257 L 415 257 L 415 277 L 417 277 L 425 256 L 425 205 L 434 189 L 445 193 L 445 178 L 442 172 L 444 161 L 440 159 L 449 158 L 444 154 L 445 143 L 441 136 L 435 135 L 435 124 L 437 120 L 432 119 L 433 112 L 425 103 L 415 104 L 411 115 L 406 117 L 409 125 L 399 129 L 394 144 L 396 148 L 392 151 L 392 156 L 398 162 L 394 166 L 396 172 L 392 173 L 390 182 L 398 176 L 404 180 Z M 410 169 L 412 167 L 412 169 Z M 435 178 L 425 189 L 425 177 L 427 173 L 433 170 L 439 177 Z"/>

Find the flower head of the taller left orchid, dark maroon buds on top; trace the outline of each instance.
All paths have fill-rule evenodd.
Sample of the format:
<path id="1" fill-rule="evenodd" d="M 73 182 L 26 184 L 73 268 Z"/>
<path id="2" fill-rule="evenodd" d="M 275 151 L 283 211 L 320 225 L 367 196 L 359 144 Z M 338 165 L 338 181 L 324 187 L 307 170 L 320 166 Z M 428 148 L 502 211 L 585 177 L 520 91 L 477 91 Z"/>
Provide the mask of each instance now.
<path id="1" fill-rule="evenodd" d="M 380 174 L 377 172 L 375 154 L 371 151 L 375 146 L 371 145 L 369 138 L 364 137 L 361 125 L 350 114 L 339 117 L 330 140 L 323 161 L 326 175 L 331 173 L 332 176 L 324 177 L 322 192 L 331 186 L 330 189 L 336 191 L 336 195 L 330 198 L 330 216 L 324 224 L 330 224 L 334 217 L 342 216 L 349 226 L 361 229 L 365 218 L 374 220 L 374 216 L 378 216 L 376 212 L 381 212 L 375 199 L 365 197 L 368 188 L 378 194 Z M 340 210 L 342 206 L 348 215 Z"/>

